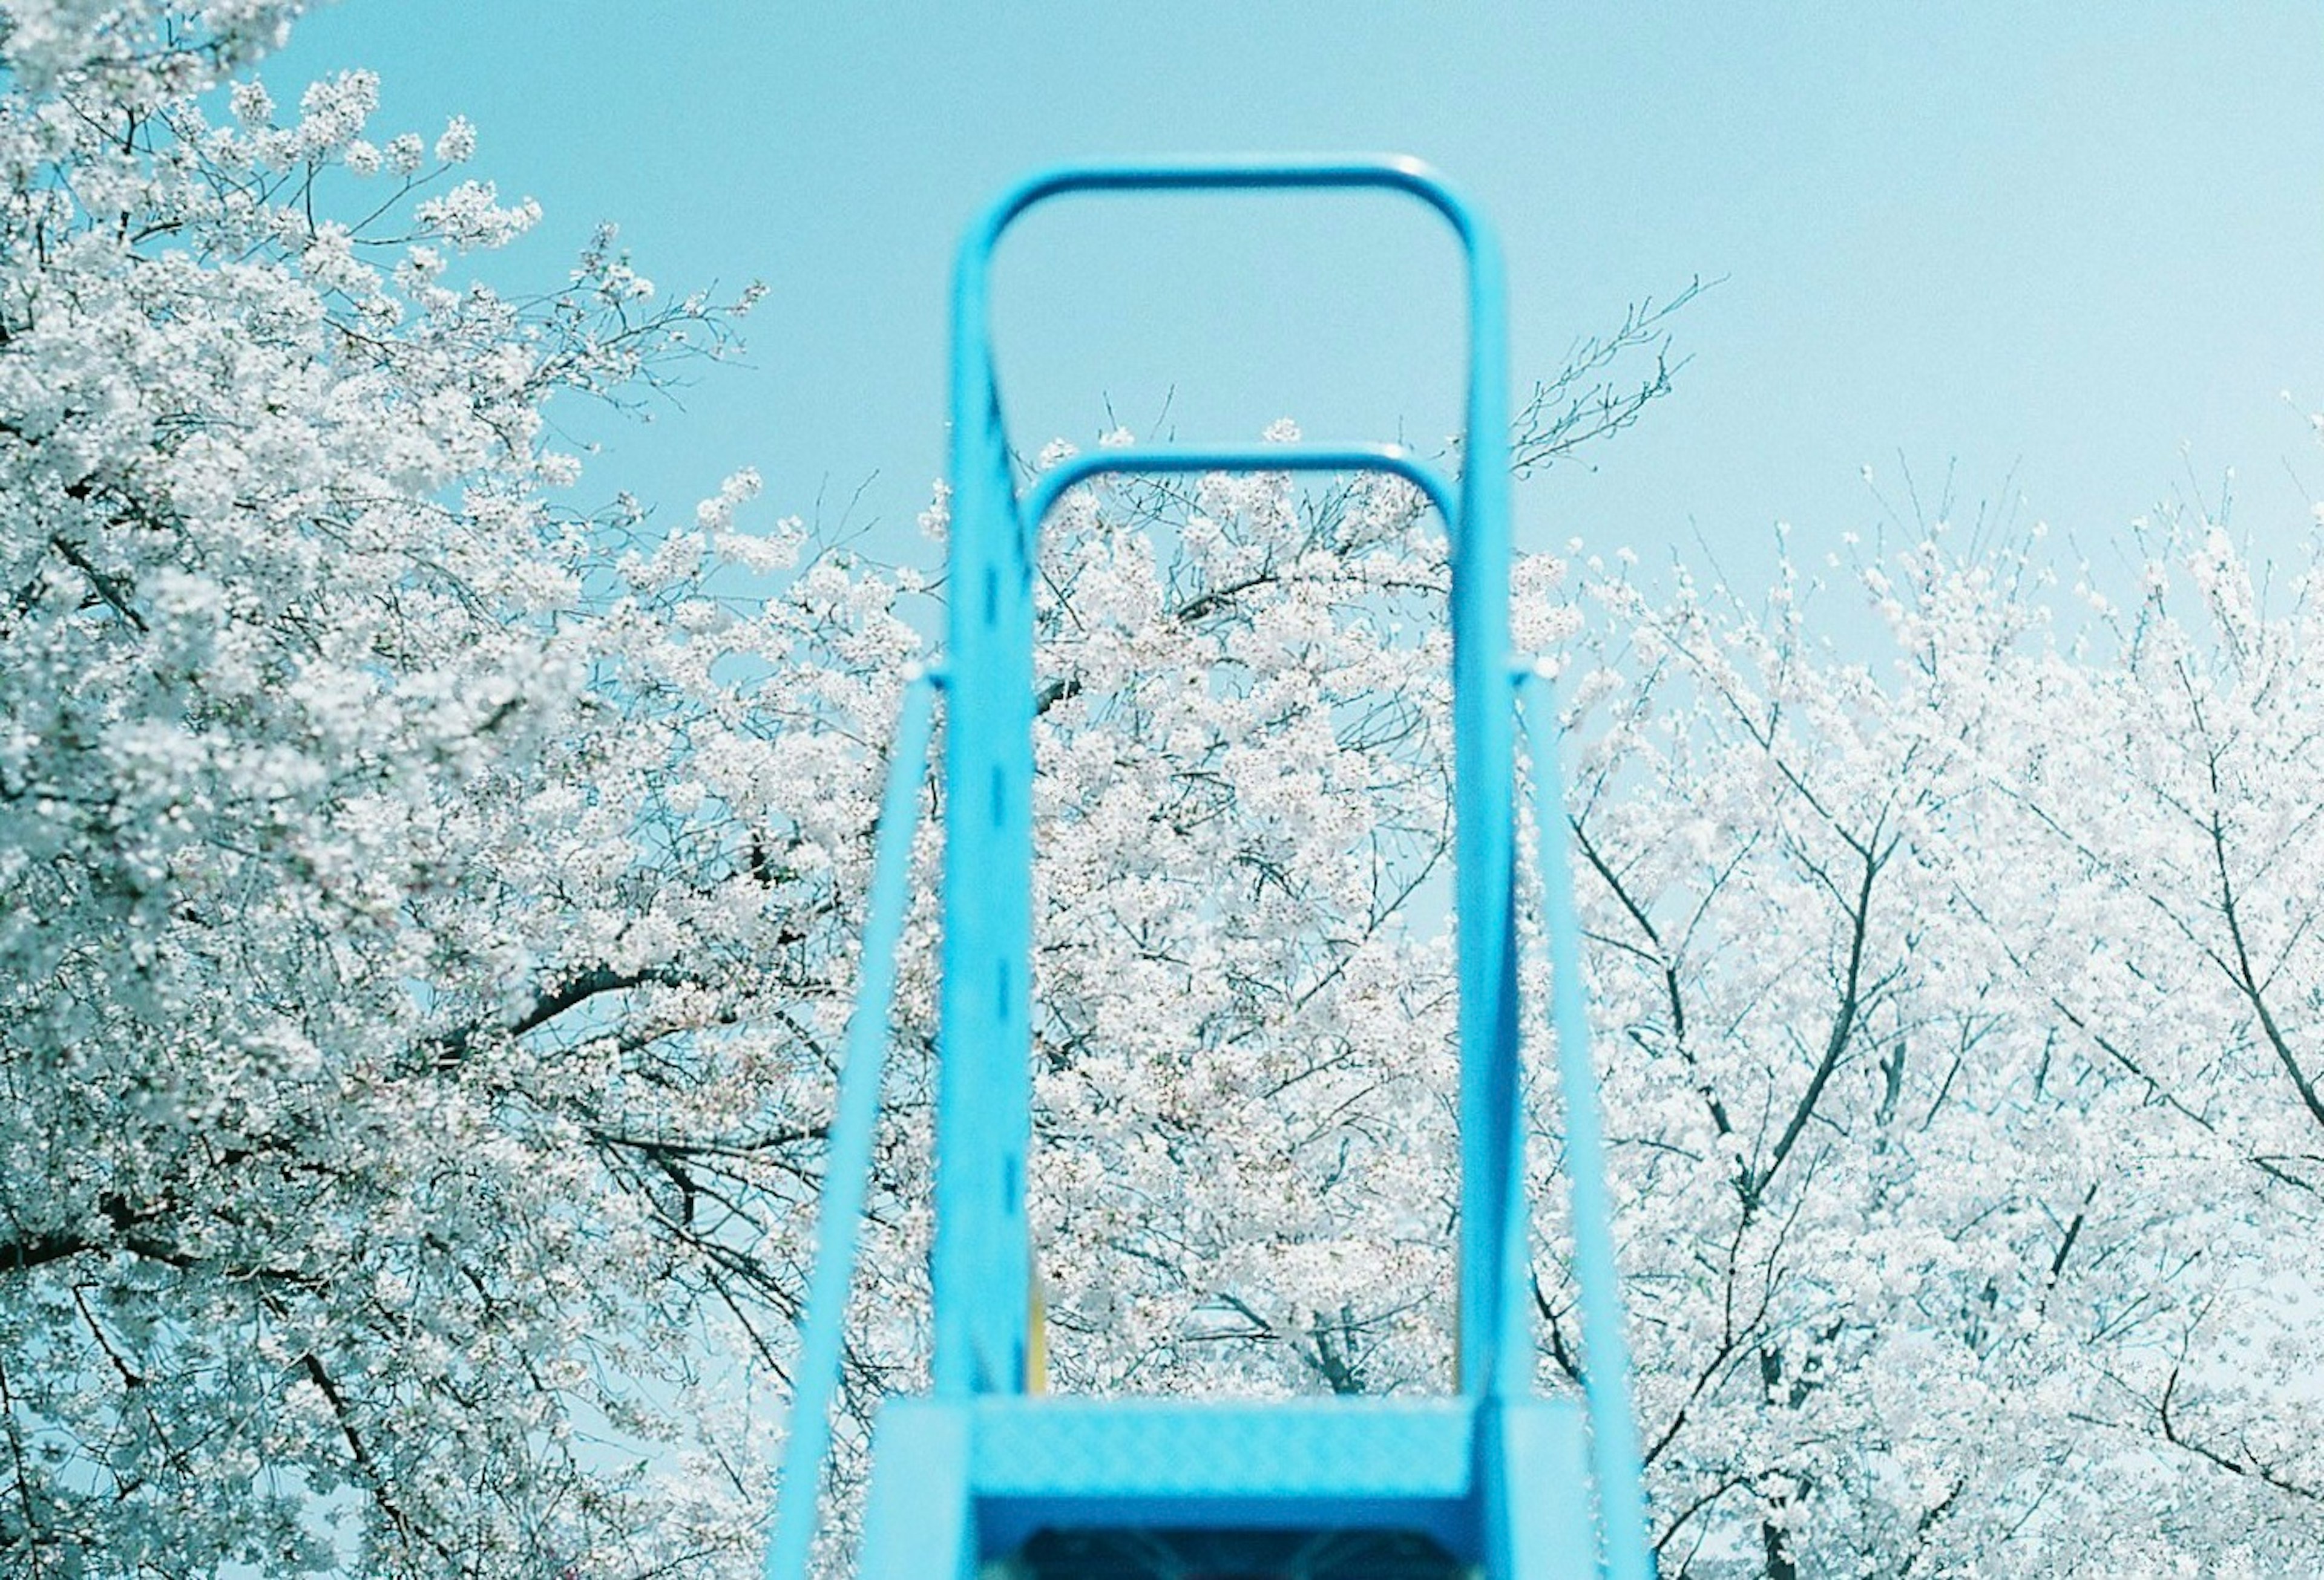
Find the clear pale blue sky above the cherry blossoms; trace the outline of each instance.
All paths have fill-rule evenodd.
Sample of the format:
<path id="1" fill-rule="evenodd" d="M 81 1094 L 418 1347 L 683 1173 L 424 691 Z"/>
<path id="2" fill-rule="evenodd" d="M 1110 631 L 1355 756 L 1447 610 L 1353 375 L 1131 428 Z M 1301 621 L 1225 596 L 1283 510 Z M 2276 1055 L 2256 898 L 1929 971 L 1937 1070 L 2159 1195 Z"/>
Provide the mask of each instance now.
<path id="1" fill-rule="evenodd" d="M 983 16 L 978 16 L 983 12 Z M 342 0 L 277 98 L 370 65 L 383 130 L 481 128 L 546 207 L 490 267 L 555 279 L 616 218 L 667 288 L 765 279 L 746 367 L 611 439 L 597 488 L 672 520 L 734 465 L 774 511 L 925 558 L 946 270 L 1016 172 L 1155 151 L 1411 151 L 1497 218 L 1522 383 L 1724 276 L 1676 323 L 1678 393 L 1520 490 L 1520 534 L 1741 579 L 1771 525 L 1868 532 L 1899 451 L 1934 500 L 2015 476 L 2024 520 L 2103 544 L 2217 497 L 2298 551 L 2324 451 L 2324 12 L 2226 5 L 748 5 Z M 1450 249 L 1392 204 L 1043 216 L 1004 253 L 1013 432 L 1311 437 L 1455 425 Z M 1262 223 L 1264 221 L 1264 223 Z M 2303 402 L 2287 407 L 2280 390 Z M 579 421 L 579 414 L 572 414 Z M 2303 479 L 2294 483 L 2291 472 Z M 1959 511 L 1968 514 L 1968 509 Z"/>

